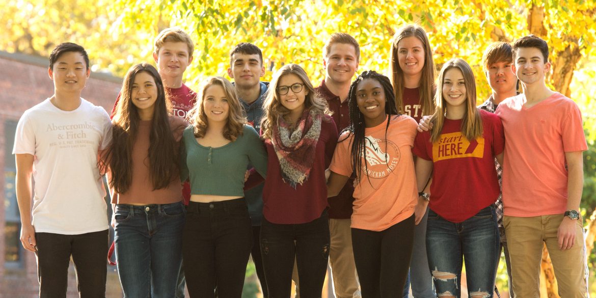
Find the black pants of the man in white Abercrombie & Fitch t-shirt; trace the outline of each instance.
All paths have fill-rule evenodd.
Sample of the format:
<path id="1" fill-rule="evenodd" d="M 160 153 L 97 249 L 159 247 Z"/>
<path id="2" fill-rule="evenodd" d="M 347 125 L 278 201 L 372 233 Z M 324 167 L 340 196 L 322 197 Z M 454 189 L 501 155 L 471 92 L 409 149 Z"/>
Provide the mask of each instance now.
<path id="1" fill-rule="evenodd" d="M 70 257 L 81 298 L 105 298 L 108 230 L 78 235 L 35 233 L 39 297 L 64 298 Z"/>

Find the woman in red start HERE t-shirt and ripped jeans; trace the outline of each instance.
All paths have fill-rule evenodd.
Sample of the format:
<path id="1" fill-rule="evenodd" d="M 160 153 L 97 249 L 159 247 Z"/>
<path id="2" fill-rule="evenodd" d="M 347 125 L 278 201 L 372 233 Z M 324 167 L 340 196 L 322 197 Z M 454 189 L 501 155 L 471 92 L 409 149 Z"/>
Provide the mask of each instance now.
<path id="1" fill-rule="evenodd" d="M 500 255 L 495 157 L 502 164 L 503 125 L 476 107 L 474 73 L 464 60 L 443 64 L 437 85 L 433 131 L 418 134 L 414 145 L 418 191 L 433 176 L 430 203 L 418 204 L 430 207 L 426 247 L 436 293 L 460 297 L 463 260 L 468 296 L 492 297 Z"/>

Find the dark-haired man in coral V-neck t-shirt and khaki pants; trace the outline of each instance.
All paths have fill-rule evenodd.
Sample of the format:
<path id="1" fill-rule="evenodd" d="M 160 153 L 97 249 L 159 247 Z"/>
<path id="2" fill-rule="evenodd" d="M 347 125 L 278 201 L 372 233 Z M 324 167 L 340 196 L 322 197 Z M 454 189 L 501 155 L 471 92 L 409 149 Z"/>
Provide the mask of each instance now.
<path id="1" fill-rule="evenodd" d="M 545 84 L 548 45 L 529 35 L 513 44 L 512 70 L 523 93 L 496 109 L 505 132 L 504 225 L 515 297 L 539 297 L 542 247 L 551 256 L 558 294 L 587 297 L 586 250 L 579 203 L 582 151 L 578 105 Z"/>

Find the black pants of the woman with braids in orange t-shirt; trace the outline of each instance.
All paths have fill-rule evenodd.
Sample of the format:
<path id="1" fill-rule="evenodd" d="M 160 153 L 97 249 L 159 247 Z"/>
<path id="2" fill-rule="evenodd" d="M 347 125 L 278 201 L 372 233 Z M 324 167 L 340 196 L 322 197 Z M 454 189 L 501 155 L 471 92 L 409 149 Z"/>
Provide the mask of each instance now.
<path id="1" fill-rule="evenodd" d="M 412 215 L 379 232 L 352 228 L 362 298 L 402 297 L 412 258 L 414 225 Z"/>

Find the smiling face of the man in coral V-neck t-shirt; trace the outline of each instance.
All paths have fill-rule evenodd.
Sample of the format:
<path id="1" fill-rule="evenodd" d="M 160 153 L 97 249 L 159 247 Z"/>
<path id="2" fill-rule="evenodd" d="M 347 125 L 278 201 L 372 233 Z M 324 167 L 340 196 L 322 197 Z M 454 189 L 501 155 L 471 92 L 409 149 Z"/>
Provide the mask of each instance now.
<path id="1" fill-rule="evenodd" d="M 525 85 L 544 83 L 544 76 L 550 69 L 551 64 L 545 63 L 539 48 L 517 49 L 513 71 Z"/>

